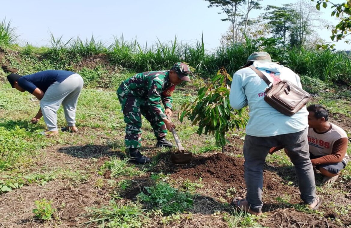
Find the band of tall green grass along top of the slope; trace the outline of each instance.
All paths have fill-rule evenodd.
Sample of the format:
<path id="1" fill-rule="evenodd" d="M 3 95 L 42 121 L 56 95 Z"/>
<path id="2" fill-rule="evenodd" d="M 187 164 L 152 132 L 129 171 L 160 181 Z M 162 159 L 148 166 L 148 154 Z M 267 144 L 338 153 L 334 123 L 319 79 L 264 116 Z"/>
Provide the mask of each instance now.
<path id="1" fill-rule="evenodd" d="M 11 27 L 11 21 L 6 22 L 4 19 L 0 22 L 1 47 L 7 47 L 17 37 L 15 28 Z M 112 45 L 106 47 L 104 42 L 96 40 L 94 36 L 86 40 L 78 37 L 75 40 L 71 38 L 64 41 L 62 36 L 55 37 L 51 33 L 49 42 L 49 47 L 45 48 L 27 44 L 20 52 L 25 55 L 36 53 L 37 56 L 32 56 L 31 59 L 33 65 L 45 62 L 40 70 L 51 68 L 74 71 L 75 64 L 83 57 L 103 53 L 107 54 L 111 64 L 137 72 L 170 69 L 175 62 L 184 61 L 194 67 L 198 74 L 207 78 L 221 67 L 225 67 L 230 74 L 233 74 L 246 62 L 251 53 L 267 51 L 272 54 L 273 61 L 290 67 L 298 74 L 316 77 L 327 83 L 351 82 L 351 57 L 345 52 L 283 48 L 275 46 L 272 42 L 258 42 L 247 37 L 244 43 L 220 46 L 214 52 L 205 49 L 203 36 L 201 40 L 192 43 L 179 41 L 175 36 L 172 41 L 157 40 L 153 45 L 146 43 L 143 46 L 136 39 L 126 41 L 122 35 L 115 36 Z"/>

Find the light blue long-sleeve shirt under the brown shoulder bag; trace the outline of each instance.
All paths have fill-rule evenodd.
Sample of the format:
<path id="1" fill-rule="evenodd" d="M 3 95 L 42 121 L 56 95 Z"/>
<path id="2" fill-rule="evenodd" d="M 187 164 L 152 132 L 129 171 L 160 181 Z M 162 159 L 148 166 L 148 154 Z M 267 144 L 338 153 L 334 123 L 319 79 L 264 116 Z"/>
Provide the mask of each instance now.
<path id="1" fill-rule="evenodd" d="M 302 88 L 300 78 L 291 69 L 277 63 L 253 63 L 274 84 L 287 80 Z M 268 137 L 296 133 L 308 126 L 306 107 L 292 116 L 286 116 L 264 101 L 267 84 L 251 69 L 243 68 L 235 72 L 230 89 L 230 105 L 234 109 L 249 106 L 249 122 L 246 134 Z"/>

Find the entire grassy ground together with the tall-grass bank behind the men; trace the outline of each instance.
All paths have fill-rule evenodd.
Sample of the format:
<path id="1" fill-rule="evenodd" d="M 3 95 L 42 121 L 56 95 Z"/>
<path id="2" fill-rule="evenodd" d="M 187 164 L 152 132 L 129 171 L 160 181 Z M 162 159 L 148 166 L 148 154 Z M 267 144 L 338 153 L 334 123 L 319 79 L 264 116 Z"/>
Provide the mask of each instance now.
<path id="1" fill-rule="evenodd" d="M 339 179 L 322 185 L 316 175 L 322 206 L 311 211 L 300 205 L 294 168 L 283 152 L 267 156 L 264 166 L 264 214 L 252 216 L 231 206 L 244 196 L 243 139 L 245 130 L 230 132 L 225 153 L 213 136 L 197 135 L 197 126 L 173 117 L 183 146 L 194 154 L 187 165 L 174 165 L 170 151 L 155 148 L 150 124 L 143 119 L 143 152 L 148 165 L 128 162 L 123 116 L 115 94 L 120 82 L 135 71 L 169 69 L 185 61 L 197 78 L 174 93 L 175 114 L 193 101 L 197 89 L 224 66 L 232 74 L 255 51 L 267 51 L 301 74 L 314 103 L 330 111 L 331 121 L 351 135 L 351 58 L 344 52 L 265 46 L 246 40 L 214 50 L 204 38 L 192 43 L 177 40 L 141 45 L 114 37 L 107 44 L 79 37 L 68 41 L 51 34 L 50 45 L 16 44 L 15 28 L 0 22 L 0 228 L 2 227 L 351 227 L 351 165 Z M 6 82 L 8 68 L 19 74 L 46 69 L 82 75 L 77 110 L 78 133 L 47 138 L 37 113 L 39 101 Z M 5 70 L 7 69 L 7 70 Z M 343 86 L 336 86 L 342 83 Z M 333 85 L 333 86 L 331 86 Z M 65 126 L 62 109 L 59 127 Z M 171 135 L 168 140 L 173 141 Z M 351 149 L 349 147 L 349 155 Z"/>

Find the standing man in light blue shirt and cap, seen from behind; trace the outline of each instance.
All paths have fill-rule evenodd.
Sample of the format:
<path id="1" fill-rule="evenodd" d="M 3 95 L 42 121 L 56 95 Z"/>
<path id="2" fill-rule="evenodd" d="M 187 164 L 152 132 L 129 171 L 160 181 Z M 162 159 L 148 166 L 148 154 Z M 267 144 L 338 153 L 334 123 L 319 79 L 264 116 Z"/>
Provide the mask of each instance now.
<path id="1" fill-rule="evenodd" d="M 233 75 L 230 90 L 230 105 L 234 109 L 249 106 L 250 119 L 246 126 L 244 142 L 244 177 L 246 197 L 236 197 L 234 206 L 251 214 L 260 215 L 263 206 L 263 165 L 272 147 L 284 145 L 294 164 L 301 199 L 311 209 L 318 209 L 320 198 L 316 185 L 307 140 L 309 114 L 306 107 L 292 116 L 287 116 L 264 100 L 267 84 L 249 66 L 253 65 L 275 85 L 287 80 L 302 88 L 299 76 L 291 69 L 274 63 L 267 52 L 252 53 L 244 66 Z"/>

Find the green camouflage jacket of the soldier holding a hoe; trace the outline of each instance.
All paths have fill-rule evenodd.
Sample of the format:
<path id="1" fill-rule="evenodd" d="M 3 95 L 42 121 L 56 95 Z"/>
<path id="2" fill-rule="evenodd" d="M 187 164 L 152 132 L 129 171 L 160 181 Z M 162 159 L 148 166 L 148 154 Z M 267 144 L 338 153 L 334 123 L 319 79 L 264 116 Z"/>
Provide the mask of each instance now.
<path id="1" fill-rule="evenodd" d="M 167 119 L 162 110 L 164 107 L 172 109 L 172 93 L 176 87 L 170 82 L 169 71 L 150 71 L 135 74 L 122 82 L 124 93 L 132 95 L 146 105 L 156 114 L 159 120 Z M 121 85 L 121 86 L 122 86 Z"/>

